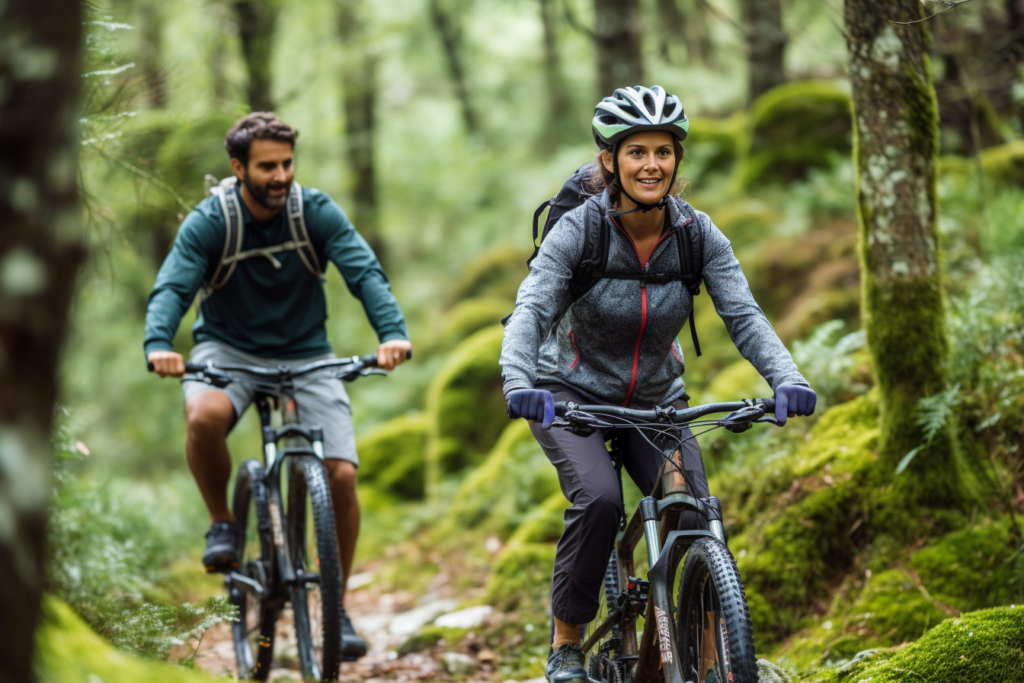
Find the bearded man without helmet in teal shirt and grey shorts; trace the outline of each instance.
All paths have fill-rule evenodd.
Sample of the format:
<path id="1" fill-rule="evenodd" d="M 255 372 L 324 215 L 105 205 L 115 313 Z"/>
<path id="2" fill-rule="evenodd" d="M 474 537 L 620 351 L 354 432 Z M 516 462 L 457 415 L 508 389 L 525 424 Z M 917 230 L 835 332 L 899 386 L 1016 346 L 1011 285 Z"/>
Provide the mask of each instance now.
<path id="1" fill-rule="evenodd" d="M 184 373 L 173 340 L 201 288 L 191 361 L 276 368 L 333 357 L 322 282 L 328 260 L 362 302 L 380 339 L 380 367 L 392 370 L 412 349 L 401 310 L 373 250 L 330 197 L 293 182 L 297 135 L 270 113 L 245 116 L 227 131 L 224 146 L 238 182 L 221 183 L 188 214 L 150 295 L 144 350 L 161 377 Z M 225 211 L 232 214 L 229 219 Z M 241 244 L 232 247 L 239 236 Z M 253 401 L 254 390 L 244 378 L 225 388 L 186 381 L 182 389 L 185 455 L 210 512 L 203 564 L 209 571 L 223 570 L 239 562 L 238 529 L 227 504 L 231 465 L 225 437 Z M 324 428 L 347 578 L 359 529 L 358 458 L 348 396 L 341 382 L 328 375 L 297 383 L 295 398 L 303 421 Z M 367 651 L 344 610 L 342 649 L 346 657 Z"/>

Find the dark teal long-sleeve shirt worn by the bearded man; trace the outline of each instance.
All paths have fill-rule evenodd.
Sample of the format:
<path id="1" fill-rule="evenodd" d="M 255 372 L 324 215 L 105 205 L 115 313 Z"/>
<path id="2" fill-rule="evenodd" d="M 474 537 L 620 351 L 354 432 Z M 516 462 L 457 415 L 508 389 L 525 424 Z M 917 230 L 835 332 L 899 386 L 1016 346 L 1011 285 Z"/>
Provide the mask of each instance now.
<path id="1" fill-rule="evenodd" d="M 239 191 L 238 188 L 234 189 Z M 391 286 L 370 245 L 330 197 L 302 188 L 303 216 L 321 267 L 328 261 L 341 271 L 349 291 L 366 309 L 380 341 L 408 339 L 406 321 Z M 287 212 L 258 223 L 242 202 L 242 251 L 271 247 L 292 239 Z M 224 249 L 226 225 L 215 197 L 200 202 L 181 223 L 150 294 L 143 348 L 171 350 L 181 317 L 212 276 Z M 295 251 L 239 262 L 231 279 L 205 298 L 193 326 L 196 343 L 219 341 L 267 358 L 303 358 L 331 352 L 327 339 L 327 298 Z"/>

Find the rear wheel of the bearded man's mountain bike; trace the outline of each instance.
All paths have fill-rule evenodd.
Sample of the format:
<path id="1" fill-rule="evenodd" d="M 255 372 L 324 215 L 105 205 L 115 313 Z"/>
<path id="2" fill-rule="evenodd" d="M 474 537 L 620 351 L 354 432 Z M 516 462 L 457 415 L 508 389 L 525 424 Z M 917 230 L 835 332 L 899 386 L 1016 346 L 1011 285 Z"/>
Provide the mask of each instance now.
<path id="1" fill-rule="evenodd" d="M 238 573 L 247 580 L 234 582 L 228 595 L 239 609 L 239 618 L 231 624 L 239 680 L 265 681 L 270 675 L 279 610 L 265 601 L 275 567 L 270 540 L 260 530 L 268 529 L 270 522 L 263 466 L 258 461 L 246 461 L 239 468 L 231 505 L 241 537 Z"/>

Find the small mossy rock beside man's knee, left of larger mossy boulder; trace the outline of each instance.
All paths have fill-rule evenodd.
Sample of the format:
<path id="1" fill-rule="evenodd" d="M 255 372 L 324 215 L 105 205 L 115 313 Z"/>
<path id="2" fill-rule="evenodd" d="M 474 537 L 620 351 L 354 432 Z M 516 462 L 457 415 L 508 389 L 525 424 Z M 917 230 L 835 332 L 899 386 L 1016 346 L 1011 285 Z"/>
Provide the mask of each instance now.
<path id="1" fill-rule="evenodd" d="M 378 425 L 356 442 L 359 480 L 406 499 L 426 493 L 429 428 L 421 415 L 403 415 Z"/>

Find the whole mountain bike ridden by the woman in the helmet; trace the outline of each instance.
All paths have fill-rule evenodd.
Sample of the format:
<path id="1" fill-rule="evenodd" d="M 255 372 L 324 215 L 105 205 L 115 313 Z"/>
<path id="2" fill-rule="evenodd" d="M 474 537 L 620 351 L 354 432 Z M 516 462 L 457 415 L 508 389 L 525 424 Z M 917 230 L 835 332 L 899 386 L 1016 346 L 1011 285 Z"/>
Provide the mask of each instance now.
<path id="1" fill-rule="evenodd" d="M 601 586 L 598 614 L 584 628 L 583 649 L 593 681 L 757 683 L 754 629 L 736 563 L 726 547 L 721 503 L 715 497 L 692 496 L 692 482 L 677 461 L 683 441 L 680 428 L 725 427 L 739 432 L 756 422 L 775 424 L 774 418 L 766 417 L 774 410 L 772 398 L 651 411 L 555 404 L 552 427 L 582 436 L 599 429 L 616 433 L 636 429 L 665 458 L 654 490 L 620 527 Z M 718 413 L 728 415 L 701 419 Z M 618 439 L 612 437 L 610 453 L 621 489 Z M 688 510 L 707 521 L 707 530 L 678 529 L 680 515 Z M 647 547 L 646 580 L 634 575 L 633 551 L 641 539 Z M 644 622 L 638 642 L 641 615 Z"/>

